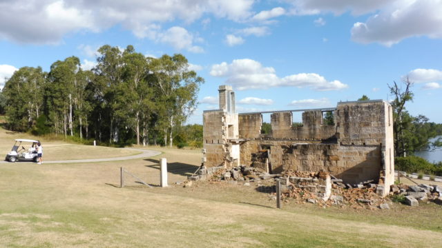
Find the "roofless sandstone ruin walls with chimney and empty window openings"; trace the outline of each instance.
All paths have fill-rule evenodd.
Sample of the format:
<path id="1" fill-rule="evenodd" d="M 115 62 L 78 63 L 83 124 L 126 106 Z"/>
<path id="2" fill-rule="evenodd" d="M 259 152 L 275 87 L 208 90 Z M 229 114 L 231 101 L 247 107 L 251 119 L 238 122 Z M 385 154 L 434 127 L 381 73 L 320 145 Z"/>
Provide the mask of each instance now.
<path id="1" fill-rule="evenodd" d="M 347 185 L 374 182 L 376 194 L 389 194 L 394 184 L 390 103 L 347 101 L 323 109 L 237 113 L 231 86 L 221 85 L 219 96 L 220 109 L 203 113 L 200 178 L 238 167 L 268 174 L 326 172 Z M 302 112 L 302 126 L 293 125 L 292 112 Z M 325 112 L 333 113 L 333 125 L 325 123 Z M 261 134 L 266 113 L 271 133 Z"/>

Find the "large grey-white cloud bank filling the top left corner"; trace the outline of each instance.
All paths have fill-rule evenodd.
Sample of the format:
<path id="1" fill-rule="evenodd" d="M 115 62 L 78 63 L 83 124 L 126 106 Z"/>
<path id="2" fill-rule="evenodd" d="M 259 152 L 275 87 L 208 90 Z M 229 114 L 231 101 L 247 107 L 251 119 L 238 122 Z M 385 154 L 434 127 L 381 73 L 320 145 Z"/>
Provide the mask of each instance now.
<path id="1" fill-rule="evenodd" d="M 156 39 L 162 23 L 176 20 L 192 23 L 212 14 L 244 21 L 251 17 L 253 3 L 253 0 L 0 1 L 0 38 L 21 43 L 59 43 L 70 32 L 99 32 L 119 24 L 136 37 Z"/>

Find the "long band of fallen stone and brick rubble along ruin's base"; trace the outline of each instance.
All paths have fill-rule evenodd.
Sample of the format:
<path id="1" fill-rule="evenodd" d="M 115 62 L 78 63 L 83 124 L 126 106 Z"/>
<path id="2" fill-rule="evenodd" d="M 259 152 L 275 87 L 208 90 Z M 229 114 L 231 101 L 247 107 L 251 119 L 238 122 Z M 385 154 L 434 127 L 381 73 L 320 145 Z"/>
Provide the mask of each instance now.
<path id="1" fill-rule="evenodd" d="M 441 186 L 425 184 L 414 186 L 392 185 L 390 198 L 383 198 L 380 194 L 383 191 L 383 185 L 378 185 L 374 180 L 351 185 L 343 183 L 343 180 L 324 171 L 286 170 L 282 174 L 268 174 L 259 167 L 238 166 L 226 169 L 224 167 L 206 168 L 203 166 L 196 175 L 189 177 L 189 180 L 200 179 L 210 181 L 227 180 L 235 184 L 244 182 L 244 185 L 256 182 L 259 191 L 267 192 L 273 196 L 276 196 L 274 182 L 278 179 L 281 182 L 282 200 L 298 204 L 312 203 L 320 207 L 335 205 L 354 209 L 390 209 L 391 199 L 410 206 L 417 206 L 419 202 L 429 200 L 442 205 Z M 262 186 L 266 183 L 273 186 Z"/>

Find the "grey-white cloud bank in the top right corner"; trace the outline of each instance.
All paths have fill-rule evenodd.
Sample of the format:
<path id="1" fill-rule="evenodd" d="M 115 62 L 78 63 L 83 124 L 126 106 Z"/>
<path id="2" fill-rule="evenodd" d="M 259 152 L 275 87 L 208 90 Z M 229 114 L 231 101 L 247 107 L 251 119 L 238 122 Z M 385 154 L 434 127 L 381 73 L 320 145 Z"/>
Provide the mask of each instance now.
<path id="1" fill-rule="evenodd" d="M 354 23 L 352 40 L 391 46 L 409 37 L 442 38 L 441 0 L 286 0 L 291 14 L 336 15 L 352 12 L 356 16 L 373 13 L 365 22 Z"/>

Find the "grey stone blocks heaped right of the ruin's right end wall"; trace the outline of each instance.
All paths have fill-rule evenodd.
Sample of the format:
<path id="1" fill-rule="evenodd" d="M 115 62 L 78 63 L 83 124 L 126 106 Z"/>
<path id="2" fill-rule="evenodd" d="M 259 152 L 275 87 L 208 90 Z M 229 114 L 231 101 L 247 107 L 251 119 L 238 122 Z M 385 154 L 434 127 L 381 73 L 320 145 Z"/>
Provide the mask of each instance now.
<path id="1" fill-rule="evenodd" d="M 390 196 L 412 207 L 419 206 L 419 202 L 428 201 L 442 205 L 442 187 L 439 185 L 392 185 Z"/>

